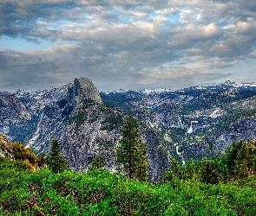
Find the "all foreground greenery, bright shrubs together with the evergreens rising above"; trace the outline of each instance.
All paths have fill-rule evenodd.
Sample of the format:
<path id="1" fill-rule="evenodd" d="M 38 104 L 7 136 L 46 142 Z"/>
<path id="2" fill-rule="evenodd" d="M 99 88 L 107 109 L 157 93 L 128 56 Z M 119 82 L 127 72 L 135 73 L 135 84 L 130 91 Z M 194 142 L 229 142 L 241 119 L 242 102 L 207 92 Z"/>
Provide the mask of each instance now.
<path id="1" fill-rule="evenodd" d="M 103 170 L 100 157 L 88 172 L 70 171 L 56 139 L 48 155 L 37 157 L 2 136 L 13 160 L 0 157 L 0 215 L 256 215 L 255 141 L 233 143 L 218 159 L 183 166 L 172 159 L 153 184 L 132 120 L 117 148 L 126 175 Z"/>

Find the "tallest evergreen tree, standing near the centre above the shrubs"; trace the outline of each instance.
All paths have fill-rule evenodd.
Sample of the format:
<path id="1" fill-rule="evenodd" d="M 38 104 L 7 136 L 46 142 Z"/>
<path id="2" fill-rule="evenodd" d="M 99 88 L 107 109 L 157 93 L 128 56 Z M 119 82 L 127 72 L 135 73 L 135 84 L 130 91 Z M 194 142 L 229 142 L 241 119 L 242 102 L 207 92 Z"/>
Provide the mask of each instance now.
<path id="1" fill-rule="evenodd" d="M 125 129 L 121 131 L 120 146 L 116 148 L 116 161 L 123 164 L 128 178 L 148 180 L 147 145 L 142 143 L 135 118 L 128 116 Z"/>

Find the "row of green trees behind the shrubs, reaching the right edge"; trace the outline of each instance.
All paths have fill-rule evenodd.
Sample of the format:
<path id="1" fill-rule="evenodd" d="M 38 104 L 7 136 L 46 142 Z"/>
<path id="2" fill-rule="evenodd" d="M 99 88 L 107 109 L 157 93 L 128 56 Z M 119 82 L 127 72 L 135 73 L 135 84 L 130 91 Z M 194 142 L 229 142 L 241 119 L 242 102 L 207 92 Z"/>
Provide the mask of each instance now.
<path id="1" fill-rule="evenodd" d="M 256 173 L 256 141 L 233 143 L 218 159 L 203 158 L 198 164 L 190 159 L 181 166 L 174 158 L 170 170 L 159 183 L 173 179 L 190 180 L 218 184 L 223 181 L 242 179 Z"/>

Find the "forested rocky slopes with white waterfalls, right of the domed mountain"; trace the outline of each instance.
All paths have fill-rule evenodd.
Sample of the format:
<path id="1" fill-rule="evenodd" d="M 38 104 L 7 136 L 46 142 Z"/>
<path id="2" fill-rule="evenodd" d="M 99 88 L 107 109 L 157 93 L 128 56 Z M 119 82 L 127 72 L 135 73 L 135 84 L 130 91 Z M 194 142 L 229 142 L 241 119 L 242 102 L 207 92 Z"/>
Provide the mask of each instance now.
<path id="1" fill-rule="evenodd" d="M 230 81 L 179 91 L 101 92 L 104 103 L 144 119 L 158 131 L 170 155 L 181 162 L 218 156 L 235 141 L 253 139 L 255 95 L 255 84 Z"/>

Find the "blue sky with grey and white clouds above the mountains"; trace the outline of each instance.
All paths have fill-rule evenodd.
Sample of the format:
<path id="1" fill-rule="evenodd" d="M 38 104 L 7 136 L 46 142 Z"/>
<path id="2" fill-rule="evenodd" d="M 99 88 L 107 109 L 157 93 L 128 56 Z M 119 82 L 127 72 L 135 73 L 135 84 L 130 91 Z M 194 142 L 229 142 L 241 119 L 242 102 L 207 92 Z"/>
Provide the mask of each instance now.
<path id="1" fill-rule="evenodd" d="M 0 92 L 256 81 L 255 0 L 1 0 Z"/>

